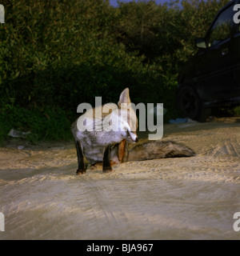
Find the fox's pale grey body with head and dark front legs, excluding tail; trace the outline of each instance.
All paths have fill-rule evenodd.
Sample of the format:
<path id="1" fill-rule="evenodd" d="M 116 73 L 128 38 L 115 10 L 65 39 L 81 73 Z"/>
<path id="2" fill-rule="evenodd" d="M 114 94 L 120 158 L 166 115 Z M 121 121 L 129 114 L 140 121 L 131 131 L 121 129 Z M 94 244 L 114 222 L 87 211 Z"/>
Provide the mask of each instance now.
<path id="1" fill-rule="evenodd" d="M 122 103 L 126 104 L 122 106 Z M 77 173 L 86 171 L 82 167 L 79 168 L 82 166 L 82 156 L 85 156 L 92 165 L 103 162 L 103 170 L 111 170 L 110 160 L 119 163 L 118 144 L 124 139 L 138 142 L 136 134 L 138 119 L 134 110 L 127 107 L 128 104 L 130 104 L 130 95 L 129 89 L 126 88 L 120 94 L 118 106 L 108 103 L 94 110 L 86 110 L 86 113 L 72 124 L 71 130 L 78 154 Z M 108 129 L 109 126 L 106 125 L 109 123 L 110 128 L 114 129 Z M 102 126 L 106 129 L 102 129 Z"/>

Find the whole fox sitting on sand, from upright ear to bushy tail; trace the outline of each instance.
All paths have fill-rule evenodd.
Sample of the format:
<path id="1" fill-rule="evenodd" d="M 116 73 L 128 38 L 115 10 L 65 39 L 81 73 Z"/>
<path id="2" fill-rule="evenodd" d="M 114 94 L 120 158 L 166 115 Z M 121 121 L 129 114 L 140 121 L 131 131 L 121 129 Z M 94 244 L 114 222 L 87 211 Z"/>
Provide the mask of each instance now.
<path id="1" fill-rule="evenodd" d="M 173 141 L 148 141 L 130 149 L 129 143 L 138 142 L 138 118 L 130 104 L 130 90 L 126 88 L 117 105 L 107 103 L 86 110 L 73 122 L 71 132 L 78 157 L 77 175 L 86 173 L 84 157 L 92 168 L 100 164 L 102 172 L 109 173 L 112 166 L 122 162 L 196 155 L 190 147 Z"/>

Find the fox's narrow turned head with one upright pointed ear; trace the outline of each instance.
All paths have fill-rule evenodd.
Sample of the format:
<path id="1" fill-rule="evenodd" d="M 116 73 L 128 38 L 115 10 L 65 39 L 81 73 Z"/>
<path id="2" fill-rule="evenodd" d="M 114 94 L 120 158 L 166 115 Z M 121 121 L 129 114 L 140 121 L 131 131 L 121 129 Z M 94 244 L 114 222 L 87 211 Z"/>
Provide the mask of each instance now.
<path id="1" fill-rule="evenodd" d="M 129 142 L 138 142 L 138 118 L 130 101 L 129 89 L 126 88 L 120 94 L 118 101 L 119 126 L 122 131 L 122 138 Z"/>

